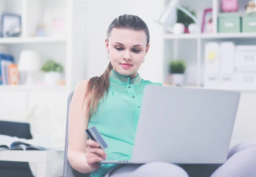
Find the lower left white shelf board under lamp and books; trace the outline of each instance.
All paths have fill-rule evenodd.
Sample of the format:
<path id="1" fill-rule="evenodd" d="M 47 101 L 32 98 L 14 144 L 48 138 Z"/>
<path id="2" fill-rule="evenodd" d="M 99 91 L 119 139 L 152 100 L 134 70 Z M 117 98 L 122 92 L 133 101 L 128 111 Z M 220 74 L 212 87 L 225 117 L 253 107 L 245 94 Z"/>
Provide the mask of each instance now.
<path id="1" fill-rule="evenodd" d="M 1 91 L 64 91 L 66 87 L 64 85 L 47 86 L 47 85 L 0 85 Z"/>

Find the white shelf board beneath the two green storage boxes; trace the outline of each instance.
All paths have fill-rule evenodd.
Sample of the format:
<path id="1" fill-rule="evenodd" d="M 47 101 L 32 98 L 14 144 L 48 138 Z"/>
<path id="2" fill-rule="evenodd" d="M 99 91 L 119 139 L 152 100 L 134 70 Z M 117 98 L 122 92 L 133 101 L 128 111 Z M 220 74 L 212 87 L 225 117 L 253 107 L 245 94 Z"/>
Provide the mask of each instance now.
<path id="1" fill-rule="evenodd" d="M 181 34 L 164 35 L 165 39 L 199 39 L 197 34 Z M 215 38 L 256 38 L 256 33 L 217 33 L 217 34 L 202 34 L 202 39 L 215 39 Z"/>

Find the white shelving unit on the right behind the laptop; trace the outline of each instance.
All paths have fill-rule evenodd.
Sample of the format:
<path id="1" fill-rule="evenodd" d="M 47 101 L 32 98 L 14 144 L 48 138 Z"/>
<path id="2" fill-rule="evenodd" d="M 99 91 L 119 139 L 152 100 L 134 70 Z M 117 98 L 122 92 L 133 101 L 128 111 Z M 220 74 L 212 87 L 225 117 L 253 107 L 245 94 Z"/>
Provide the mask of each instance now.
<path id="1" fill-rule="evenodd" d="M 170 0 L 166 0 L 167 5 Z M 198 3 L 197 3 L 198 2 Z M 234 41 L 237 44 L 254 44 L 256 45 L 256 32 L 239 32 L 239 33 L 218 33 L 217 21 L 220 13 L 221 0 L 206 0 L 204 2 L 179 0 L 180 5 L 189 7 L 189 10 L 195 10 L 199 22 L 202 22 L 204 9 L 212 8 L 212 33 L 199 34 L 181 34 L 174 35 L 165 32 L 165 60 L 167 66 L 165 74 L 168 72 L 168 63 L 171 60 L 184 59 L 187 62 L 189 74 L 187 74 L 188 86 L 202 87 L 204 85 L 204 44 L 208 41 Z M 244 11 L 247 0 L 239 1 L 239 12 Z M 200 24 L 201 25 L 201 24 Z M 201 26 L 200 26 L 201 29 Z M 188 76 L 189 75 L 189 76 Z M 241 90 L 250 91 L 253 90 Z"/>

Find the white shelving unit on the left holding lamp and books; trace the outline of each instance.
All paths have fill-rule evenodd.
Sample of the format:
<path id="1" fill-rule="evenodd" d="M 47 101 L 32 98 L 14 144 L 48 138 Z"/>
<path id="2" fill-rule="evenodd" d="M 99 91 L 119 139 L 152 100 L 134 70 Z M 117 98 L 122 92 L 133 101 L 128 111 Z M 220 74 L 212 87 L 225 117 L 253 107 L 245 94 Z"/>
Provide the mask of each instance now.
<path id="1" fill-rule="evenodd" d="M 72 82 L 73 74 L 73 31 L 76 24 L 73 23 L 73 1 L 72 0 L 0 0 L 0 13 L 9 12 L 22 17 L 22 35 L 17 38 L 0 38 L 0 45 L 9 48 L 9 52 L 15 56 L 15 62 L 23 49 L 32 49 L 41 54 L 42 64 L 48 58 L 64 65 L 64 80 L 67 91 L 74 88 Z M 52 35 L 52 19 L 65 18 L 65 34 Z M 34 36 L 38 24 L 46 24 L 48 32 L 45 37 Z M 9 85 L 0 85 L 0 90 L 6 90 Z M 35 86 L 37 88 L 38 86 Z M 42 87 L 42 86 L 40 86 Z M 46 90 L 52 88 L 47 87 Z M 61 86 L 63 87 L 63 86 Z M 20 88 L 20 86 L 17 86 Z"/>

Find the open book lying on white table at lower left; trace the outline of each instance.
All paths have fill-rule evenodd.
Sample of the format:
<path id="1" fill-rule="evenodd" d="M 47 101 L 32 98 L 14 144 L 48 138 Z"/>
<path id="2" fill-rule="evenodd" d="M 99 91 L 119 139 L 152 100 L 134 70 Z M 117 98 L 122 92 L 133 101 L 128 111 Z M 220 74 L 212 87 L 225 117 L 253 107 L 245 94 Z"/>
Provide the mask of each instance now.
<path id="1" fill-rule="evenodd" d="M 54 150 L 33 144 L 33 139 L 21 139 L 15 136 L 0 135 L 1 150 Z"/>

